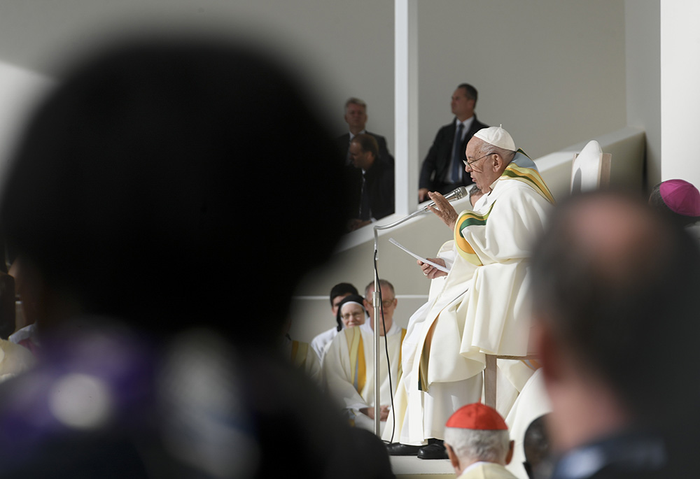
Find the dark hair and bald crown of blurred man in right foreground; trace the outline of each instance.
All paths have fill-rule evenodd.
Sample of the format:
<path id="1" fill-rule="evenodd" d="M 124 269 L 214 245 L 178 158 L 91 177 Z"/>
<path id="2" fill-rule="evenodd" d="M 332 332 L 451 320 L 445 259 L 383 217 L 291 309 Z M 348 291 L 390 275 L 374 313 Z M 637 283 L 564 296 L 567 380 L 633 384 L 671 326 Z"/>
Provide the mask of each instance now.
<path id="1" fill-rule="evenodd" d="M 535 247 L 532 280 L 537 320 L 633 414 L 661 419 L 673 409 L 659 410 L 668 398 L 700 397 L 668 369 L 700 373 L 689 353 L 700 334 L 700 254 L 643 201 L 597 192 L 558 206 Z M 673 394 L 681 385 L 684 399 Z"/>

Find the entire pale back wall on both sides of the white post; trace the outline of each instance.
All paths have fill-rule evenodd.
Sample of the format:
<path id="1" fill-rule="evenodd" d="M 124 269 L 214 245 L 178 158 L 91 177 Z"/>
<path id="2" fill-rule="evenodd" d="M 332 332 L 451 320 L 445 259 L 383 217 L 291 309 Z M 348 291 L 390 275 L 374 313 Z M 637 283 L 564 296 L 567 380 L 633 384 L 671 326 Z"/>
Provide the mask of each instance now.
<path id="1" fill-rule="evenodd" d="M 66 48 L 142 22 L 251 34 L 312 80 L 338 133 L 344 100 L 365 99 L 368 127 L 394 151 L 393 0 L 0 6 L 0 61 L 49 75 Z M 451 120 L 449 97 L 463 81 L 479 90 L 479 117 L 503 123 L 534 157 L 626 124 L 624 0 L 430 0 L 418 7 L 419 159 Z"/>

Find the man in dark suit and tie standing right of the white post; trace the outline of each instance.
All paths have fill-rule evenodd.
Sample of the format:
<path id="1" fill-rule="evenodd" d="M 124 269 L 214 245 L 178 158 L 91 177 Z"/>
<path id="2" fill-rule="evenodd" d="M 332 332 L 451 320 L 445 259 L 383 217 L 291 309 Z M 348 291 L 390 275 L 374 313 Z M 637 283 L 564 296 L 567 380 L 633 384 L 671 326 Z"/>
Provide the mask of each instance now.
<path id="1" fill-rule="evenodd" d="M 464 174 L 464 152 L 472 135 L 489 126 L 479 122 L 474 113 L 477 96 L 476 88 L 468 83 L 462 83 L 454 90 L 451 108 L 455 118 L 437 131 L 428 156 L 423 160 L 418 185 L 419 201 L 426 201 L 429 191 L 447 194 L 457 187 L 472 184 L 472 179 Z M 456 132 L 461 134 L 459 141 L 456 141 Z"/>

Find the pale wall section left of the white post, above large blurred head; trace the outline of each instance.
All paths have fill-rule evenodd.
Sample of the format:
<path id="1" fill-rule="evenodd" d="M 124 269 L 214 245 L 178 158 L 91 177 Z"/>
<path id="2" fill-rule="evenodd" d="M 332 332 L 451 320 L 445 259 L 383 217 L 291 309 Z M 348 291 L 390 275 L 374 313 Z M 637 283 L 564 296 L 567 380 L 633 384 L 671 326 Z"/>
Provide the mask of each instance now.
<path id="1" fill-rule="evenodd" d="M 67 50 L 143 24 L 253 38 L 309 79 L 332 131 L 346 131 L 345 100 L 359 96 L 393 145 L 393 21 L 393 0 L 1 0 L 0 62 L 54 76 Z"/>

